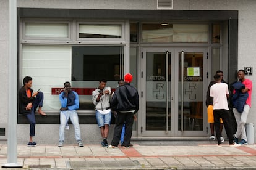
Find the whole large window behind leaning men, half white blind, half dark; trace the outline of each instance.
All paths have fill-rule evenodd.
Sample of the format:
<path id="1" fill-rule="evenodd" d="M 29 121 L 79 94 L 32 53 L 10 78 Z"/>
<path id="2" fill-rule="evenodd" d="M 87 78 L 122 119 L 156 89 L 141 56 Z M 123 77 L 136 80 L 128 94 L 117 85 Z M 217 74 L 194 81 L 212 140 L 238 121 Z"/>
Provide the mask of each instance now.
<path id="1" fill-rule="evenodd" d="M 45 94 L 46 112 L 59 111 L 58 94 L 65 81 L 79 94 L 80 110 L 94 110 L 92 91 L 100 79 L 106 79 L 112 89 L 117 87 L 123 76 L 123 54 L 122 46 L 24 45 L 22 79 L 32 76 L 32 89 Z"/>

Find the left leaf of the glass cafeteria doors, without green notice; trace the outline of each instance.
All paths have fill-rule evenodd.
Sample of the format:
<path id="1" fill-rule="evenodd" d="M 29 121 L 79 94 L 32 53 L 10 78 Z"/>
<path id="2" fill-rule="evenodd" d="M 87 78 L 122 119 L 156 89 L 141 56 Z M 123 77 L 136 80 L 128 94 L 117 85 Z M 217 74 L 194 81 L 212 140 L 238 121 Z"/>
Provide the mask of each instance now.
<path id="1" fill-rule="evenodd" d="M 171 134 L 172 56 L 170 49 L 143 49 L 143 136 Z"/>

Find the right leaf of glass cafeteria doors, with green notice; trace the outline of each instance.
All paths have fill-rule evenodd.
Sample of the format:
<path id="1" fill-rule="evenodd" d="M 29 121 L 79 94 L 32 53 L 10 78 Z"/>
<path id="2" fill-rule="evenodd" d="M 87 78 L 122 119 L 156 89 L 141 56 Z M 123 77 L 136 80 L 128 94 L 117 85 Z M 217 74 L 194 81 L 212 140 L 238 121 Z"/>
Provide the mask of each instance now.
<path id="1" fill-rule="evenodd" d="M 206 136 L 207 114 L 203 104 L 206 73 L 204 59 L 207 49 L 184 49 L 179 59 L 178 131 L 179 136 Z M 207 84 L 206 84 L 207 85 Z"/>

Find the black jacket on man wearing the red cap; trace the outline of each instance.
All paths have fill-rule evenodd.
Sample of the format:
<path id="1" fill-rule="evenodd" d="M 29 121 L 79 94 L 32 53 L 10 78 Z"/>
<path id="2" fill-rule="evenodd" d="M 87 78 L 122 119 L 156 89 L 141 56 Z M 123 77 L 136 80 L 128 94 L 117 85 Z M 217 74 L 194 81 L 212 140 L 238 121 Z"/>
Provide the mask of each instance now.
<path id="1" fill-rule="evenodd" d="M 135 87 L 129 83 L 120 86 L 114 92 L 110 101 L 110 107 L 113 111 L 134 111 L 139 110 L 139 94 Z"/>

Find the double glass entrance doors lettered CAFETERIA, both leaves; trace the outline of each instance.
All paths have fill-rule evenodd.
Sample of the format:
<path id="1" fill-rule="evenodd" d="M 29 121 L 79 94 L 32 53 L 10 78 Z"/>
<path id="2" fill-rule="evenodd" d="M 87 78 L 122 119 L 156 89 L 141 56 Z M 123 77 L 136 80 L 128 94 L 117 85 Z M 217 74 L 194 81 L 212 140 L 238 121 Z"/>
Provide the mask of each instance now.
<path id="1" fill-rule="evenodd" d="M 207 51 L 145 48 L 142 52 L 141 135 L 206 136 L 203 59 Z"/>

